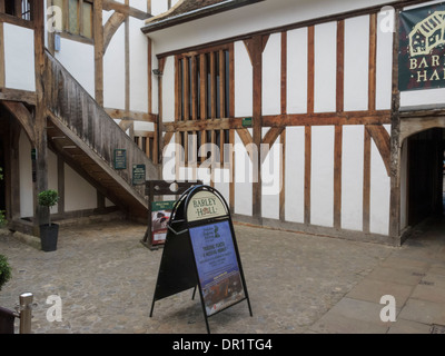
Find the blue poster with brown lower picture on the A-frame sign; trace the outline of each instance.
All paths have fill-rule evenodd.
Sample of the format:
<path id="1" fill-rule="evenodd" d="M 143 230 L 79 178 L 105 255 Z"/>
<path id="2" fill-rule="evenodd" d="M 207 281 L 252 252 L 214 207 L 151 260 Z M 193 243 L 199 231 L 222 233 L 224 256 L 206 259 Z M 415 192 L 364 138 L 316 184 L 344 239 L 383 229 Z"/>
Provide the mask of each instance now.
<path id="1" fill-rule="evenodd" d="M 189 229 L 207 316 L 245 296 L 228 220 Z"/>

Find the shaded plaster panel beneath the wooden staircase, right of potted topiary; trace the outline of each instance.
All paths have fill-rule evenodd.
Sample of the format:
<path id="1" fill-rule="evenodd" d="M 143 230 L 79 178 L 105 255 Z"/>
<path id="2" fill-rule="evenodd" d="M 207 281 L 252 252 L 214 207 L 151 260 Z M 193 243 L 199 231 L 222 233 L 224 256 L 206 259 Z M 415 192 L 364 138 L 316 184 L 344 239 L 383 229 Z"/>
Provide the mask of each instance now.
<path id="1" fill-rule="evenodd" d="M 82 177 L 65 165 L 65 210 L 97 208 L 97 192 Z"/>

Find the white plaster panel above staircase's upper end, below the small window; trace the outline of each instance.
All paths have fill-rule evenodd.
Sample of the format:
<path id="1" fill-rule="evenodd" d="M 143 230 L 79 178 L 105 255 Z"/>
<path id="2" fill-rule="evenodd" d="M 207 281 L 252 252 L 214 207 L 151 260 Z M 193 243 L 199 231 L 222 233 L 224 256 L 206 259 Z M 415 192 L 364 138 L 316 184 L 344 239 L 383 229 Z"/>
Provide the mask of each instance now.
<path id="1" fill-rule="evenodd" d="M 95 47 L 61 38 L 60 51 L 55 56 L 83 89 L 95 97 Z"/>

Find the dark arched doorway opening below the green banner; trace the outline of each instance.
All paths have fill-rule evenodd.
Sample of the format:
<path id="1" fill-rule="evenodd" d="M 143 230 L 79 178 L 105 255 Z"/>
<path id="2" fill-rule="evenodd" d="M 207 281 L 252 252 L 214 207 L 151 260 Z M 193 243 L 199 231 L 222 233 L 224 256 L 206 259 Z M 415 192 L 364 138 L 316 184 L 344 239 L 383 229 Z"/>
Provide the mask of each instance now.
<path id="1" fill-rule="evenodd" d="M 408 225 L 444 212 L 445 129 L 434 128 L 408 138 Z"/>

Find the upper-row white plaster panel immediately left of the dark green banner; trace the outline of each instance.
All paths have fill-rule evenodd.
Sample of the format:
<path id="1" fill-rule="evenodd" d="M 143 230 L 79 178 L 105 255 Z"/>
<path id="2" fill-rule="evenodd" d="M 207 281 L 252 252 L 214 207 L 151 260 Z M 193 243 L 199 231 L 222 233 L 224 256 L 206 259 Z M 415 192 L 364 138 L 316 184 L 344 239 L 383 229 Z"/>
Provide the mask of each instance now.
<path id="1" fill-rule="evenodd" d="M 376 58 L 376 109 L 390 109 L 393 82 L 393 32 L 382 31 L 379 23 L 384 13 L 377 16 L 377 58 Z"/>

